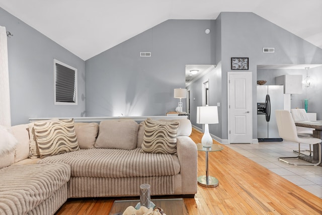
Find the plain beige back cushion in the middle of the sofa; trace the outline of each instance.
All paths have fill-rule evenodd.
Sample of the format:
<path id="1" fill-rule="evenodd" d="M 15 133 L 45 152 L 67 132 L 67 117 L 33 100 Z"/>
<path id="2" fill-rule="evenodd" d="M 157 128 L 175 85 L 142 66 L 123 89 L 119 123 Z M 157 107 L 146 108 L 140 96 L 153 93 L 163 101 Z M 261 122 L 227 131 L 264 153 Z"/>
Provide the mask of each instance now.
<path id="1" fill-rule="evenodd" d="M 136 148 L 138 127 L 133 120 L 101 121 L 95 148 L 133 150 Z"/>

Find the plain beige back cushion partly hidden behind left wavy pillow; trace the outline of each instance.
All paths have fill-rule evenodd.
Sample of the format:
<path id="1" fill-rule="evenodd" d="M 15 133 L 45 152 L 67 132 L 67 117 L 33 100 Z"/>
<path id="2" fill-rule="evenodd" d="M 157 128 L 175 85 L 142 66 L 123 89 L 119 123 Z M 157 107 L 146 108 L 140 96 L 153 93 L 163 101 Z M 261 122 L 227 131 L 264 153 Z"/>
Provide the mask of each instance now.
<path id="1" fill-rule="evenodd" d="M 75 133 L 79 149 L 94 148 L 99 131 L 99 124 L 96 122 L 75 122 Z"/>

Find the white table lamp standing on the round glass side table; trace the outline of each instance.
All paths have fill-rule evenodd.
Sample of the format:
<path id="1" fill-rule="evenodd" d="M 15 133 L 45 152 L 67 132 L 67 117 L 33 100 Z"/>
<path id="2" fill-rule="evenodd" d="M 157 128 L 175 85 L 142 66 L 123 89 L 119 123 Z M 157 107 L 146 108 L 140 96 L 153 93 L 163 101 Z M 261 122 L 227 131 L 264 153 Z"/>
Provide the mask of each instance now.
<path id="1" fill-rule="evenodd" d="M 212 146 L 212 138 L 209 133 L 208 124 L 218 123 L 218 108 L 217 106 L 201 106 L 197 107 L 197 123 L 205 124 L 205 132 L 201 138 L 203 147 Z"/>

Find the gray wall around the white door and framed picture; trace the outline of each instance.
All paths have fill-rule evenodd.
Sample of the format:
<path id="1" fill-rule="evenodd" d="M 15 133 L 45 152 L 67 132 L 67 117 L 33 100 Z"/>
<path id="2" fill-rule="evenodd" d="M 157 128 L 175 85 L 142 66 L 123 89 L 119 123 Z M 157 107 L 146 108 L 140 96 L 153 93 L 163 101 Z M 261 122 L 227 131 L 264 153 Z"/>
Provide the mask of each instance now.
<path id="1" fill-rule="evenodd" d="M 322 49 L 253 13 L 221 13 L 222 136 L 227 139 L 227 72 L 231 57 L 249 57 L 253 73 L 253 138 L 257 138 L 257 65 L 322 63 Z M 275 53 L 263 53 L 274 47 Z M 216 56 L 218 58 L 218 56 Z"/>

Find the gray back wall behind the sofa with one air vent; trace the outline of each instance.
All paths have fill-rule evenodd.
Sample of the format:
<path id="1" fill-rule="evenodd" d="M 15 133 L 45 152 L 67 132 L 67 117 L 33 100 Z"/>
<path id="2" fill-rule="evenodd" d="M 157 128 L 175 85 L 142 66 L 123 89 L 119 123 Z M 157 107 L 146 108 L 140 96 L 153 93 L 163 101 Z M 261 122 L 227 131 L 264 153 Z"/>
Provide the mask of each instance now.
<path id="1" fill-rule="evenodd" d="M 87 60 L 86 115 L 174 111 L 179 99 L 173 91 L 185 88 L 185 65 L 215 62 L 213 34 L 205 34 L 211 27 L 210 20 L 168 20 Z"/>

